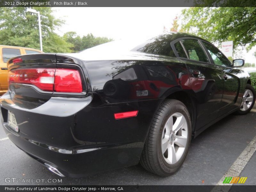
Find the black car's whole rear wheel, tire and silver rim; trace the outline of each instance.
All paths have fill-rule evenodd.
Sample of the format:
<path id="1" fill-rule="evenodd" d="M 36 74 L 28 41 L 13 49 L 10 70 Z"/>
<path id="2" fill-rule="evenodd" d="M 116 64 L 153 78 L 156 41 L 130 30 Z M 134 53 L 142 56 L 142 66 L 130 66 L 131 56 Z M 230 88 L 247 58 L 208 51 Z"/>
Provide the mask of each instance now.
<path id="1" fill-rule="evenodd" d="M 184 162 L 190 140 L 188 109 L 179 100 L 167 99 L 154 116 L 140 164 L 157 175 L 171 175 Z"/>

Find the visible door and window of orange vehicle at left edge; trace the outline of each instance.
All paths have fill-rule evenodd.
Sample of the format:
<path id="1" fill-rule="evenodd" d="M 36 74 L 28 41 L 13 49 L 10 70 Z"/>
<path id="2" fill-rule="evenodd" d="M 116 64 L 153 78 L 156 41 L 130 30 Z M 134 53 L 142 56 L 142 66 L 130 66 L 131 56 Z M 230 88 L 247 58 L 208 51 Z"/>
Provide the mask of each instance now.
<path id="1" fill-rule="evenodd" d="M 12 57 L 21 55 L 20 48 L 11 47 L 0 47 L 1 58 L 0 58 L 0 84 L 3 92 L 8 90 L 8 69 L 7 61 Z"/>

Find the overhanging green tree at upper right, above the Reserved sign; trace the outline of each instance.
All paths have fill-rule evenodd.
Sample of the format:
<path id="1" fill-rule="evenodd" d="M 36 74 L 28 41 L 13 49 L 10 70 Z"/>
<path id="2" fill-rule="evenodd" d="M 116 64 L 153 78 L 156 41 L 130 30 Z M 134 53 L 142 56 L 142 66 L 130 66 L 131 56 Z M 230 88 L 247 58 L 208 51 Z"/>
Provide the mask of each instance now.
<path id="1" fill-rule="evenodd" d="M 255 7 L 191 7 L 182 11 L 181 22 L 182 31 L 210 42 L 233 41 L 234 49 L 247 51 L 256 45 Z"/>

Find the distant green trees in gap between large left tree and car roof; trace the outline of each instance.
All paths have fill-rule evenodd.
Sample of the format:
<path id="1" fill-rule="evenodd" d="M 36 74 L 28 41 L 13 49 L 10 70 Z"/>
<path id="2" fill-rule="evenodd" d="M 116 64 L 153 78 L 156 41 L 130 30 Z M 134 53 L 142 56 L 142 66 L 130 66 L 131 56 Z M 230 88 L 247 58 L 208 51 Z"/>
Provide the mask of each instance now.
<path id="1" fill-rule="evenodd" d="M 72 52 L 82 51 L 84 49 L 88 49 L 99 44 L 113 41 L 113 39 L 109 39 L 107 37 L 95 37 L 91 33 L 87 34 L 86 36 L 80 37 L 76 34 L 76 32 L 73 31 L 65 33 L 64 38 L 68 43 L 74 45 L 74 47 L 72 48 Z"/>

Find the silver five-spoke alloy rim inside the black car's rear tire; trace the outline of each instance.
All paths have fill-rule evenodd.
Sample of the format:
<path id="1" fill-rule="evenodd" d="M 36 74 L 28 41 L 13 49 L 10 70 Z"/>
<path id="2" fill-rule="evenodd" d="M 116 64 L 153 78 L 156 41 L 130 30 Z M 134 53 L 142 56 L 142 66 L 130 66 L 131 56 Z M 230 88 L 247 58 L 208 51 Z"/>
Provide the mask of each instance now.
<path id="1" fill-rule="evenodd" d="M 162 134 L 162 154 L 168 164 L 177 163 L 183 155 L 188 140 L 188 124 L 181 113 L 167 120 Z"/>

